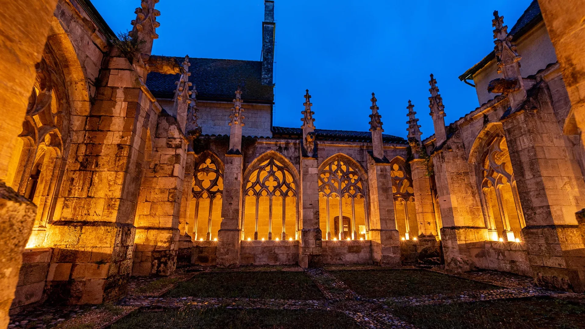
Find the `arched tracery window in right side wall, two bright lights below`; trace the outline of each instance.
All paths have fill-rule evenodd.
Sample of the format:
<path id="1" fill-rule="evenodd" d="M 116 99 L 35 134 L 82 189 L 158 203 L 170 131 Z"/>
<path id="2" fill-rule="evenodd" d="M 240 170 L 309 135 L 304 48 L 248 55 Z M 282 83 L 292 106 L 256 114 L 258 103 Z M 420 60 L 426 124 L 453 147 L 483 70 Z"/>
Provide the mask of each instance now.
<path id="1" fill-rule="evenodd" d="M 504 136 L 488 144 L 480 166 L 481 201 L 490 239 L 515 241 L 526 226 Z"/>

